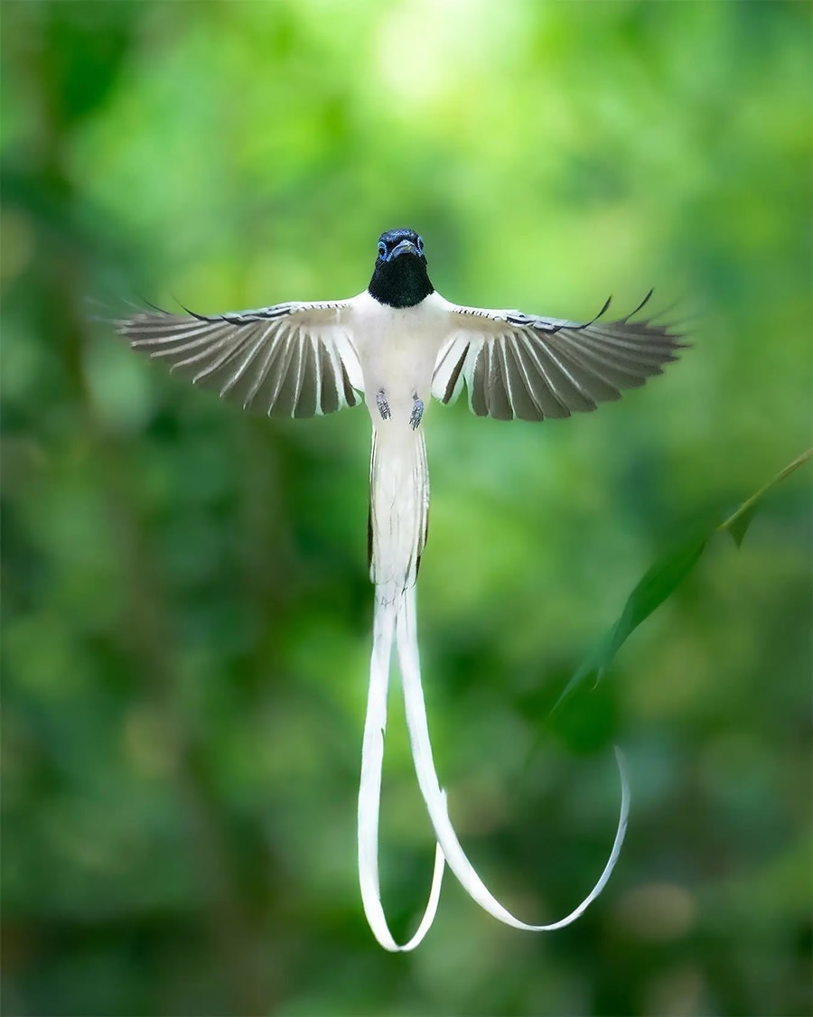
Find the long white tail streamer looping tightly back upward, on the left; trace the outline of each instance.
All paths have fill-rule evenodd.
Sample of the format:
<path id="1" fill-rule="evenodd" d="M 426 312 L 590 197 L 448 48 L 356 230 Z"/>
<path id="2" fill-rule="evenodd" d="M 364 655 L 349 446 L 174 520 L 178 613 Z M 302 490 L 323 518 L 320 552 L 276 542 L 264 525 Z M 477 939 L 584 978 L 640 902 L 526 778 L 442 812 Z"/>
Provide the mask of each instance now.
<path id="1" fill-rule="evenodd" d="M 372 935 L 385 950 L 414 950 L 429 931 L 438 910 L 444 875 L 444 855 L 438 844 L 426 910 L 408 943 L 399 946 L 392 937 L 382 906 L 379 885 L 379 812 L 381 809 L 384 731 L 387 726 L 387 687 L 395 630 L 396 607 L 380 599 L 376 592 L 369 662 L 369 693 L 361 745 L 361 783 L 358 790 L 358 879 L 361 902 Z"/>

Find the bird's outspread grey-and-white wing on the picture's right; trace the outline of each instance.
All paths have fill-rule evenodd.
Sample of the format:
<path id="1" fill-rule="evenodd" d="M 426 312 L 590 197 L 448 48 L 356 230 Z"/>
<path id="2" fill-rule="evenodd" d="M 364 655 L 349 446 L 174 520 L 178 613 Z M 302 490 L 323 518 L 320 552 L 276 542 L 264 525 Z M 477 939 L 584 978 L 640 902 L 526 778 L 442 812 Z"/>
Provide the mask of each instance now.
<path id="1" fill-rule="evenodd" d="M 590 321 L 537 317 L 521 311 L 450 304 L 453 321 L 432 376 L 432 395 L 444 403 L 460 395 L 480 417 L 545 420 L 594 410 L 619 399 L 622 388 L 642 385 L 686 344 L 667 324 L 630 320 Z"/>

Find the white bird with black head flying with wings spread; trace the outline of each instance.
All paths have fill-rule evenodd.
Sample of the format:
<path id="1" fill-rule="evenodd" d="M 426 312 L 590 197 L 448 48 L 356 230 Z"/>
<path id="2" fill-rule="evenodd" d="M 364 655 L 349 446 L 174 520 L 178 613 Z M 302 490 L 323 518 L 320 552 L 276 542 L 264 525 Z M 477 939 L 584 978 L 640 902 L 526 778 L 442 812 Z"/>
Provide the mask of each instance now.
<path id="1" fill-rule="evenodd" d="M 622 795 L 608 860 L 587 897 L 560 921 L 520 921 L 491 895 L 452 825 L 432 760 L 421 685 L 416 581 L 426 545 L 429 475 L 424 440 L 430 398 L 453 403 L 465 386 L 477 416 L 544 421 L 594 410 L 642 385 L 678 359 L 684 336 L 634 311 L 605 320 L 607 300 L 586 321 L 451 303 L 434 289 L 422 237 L 381 234 L 367 287 L 343 300 L 254 310 L 170 313 L 155 305 L 113 319 L 130 346 L 195 384 L 270 417 L 313 417 L 357 406 L 370 417 L 368 565 L 374 588 L 372 650 L 362 736 L 357 841 L 361 901 L 386 950 L 413 950 L 435 915 L 445 866 L 499 920 L 543 932 L 574 921 L 603 889 L 619 857 L 629 781 L 617 750 Z M 435 836 L 428 903 L 415 934 L 398 944 L 379 882 L 379 814 L 391 658 L 395 649 L 418 786 Z"/>

